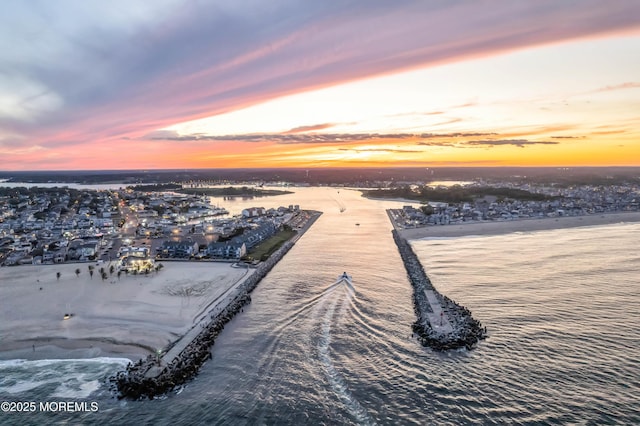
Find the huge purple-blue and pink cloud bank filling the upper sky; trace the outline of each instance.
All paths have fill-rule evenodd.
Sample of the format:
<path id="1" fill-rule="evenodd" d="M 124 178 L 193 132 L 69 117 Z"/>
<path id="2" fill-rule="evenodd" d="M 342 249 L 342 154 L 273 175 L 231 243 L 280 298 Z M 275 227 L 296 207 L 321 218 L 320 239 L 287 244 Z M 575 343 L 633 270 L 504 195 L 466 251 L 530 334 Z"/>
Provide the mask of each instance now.
<path id="1" fill-rule="evenodd" d="M 637 29 L 639 13 L 635 0 L 9 2 L 0 87 L 20 78 L 21 108 L 0 131 L 52 148 L 133 139 L 300 91 Z"/>

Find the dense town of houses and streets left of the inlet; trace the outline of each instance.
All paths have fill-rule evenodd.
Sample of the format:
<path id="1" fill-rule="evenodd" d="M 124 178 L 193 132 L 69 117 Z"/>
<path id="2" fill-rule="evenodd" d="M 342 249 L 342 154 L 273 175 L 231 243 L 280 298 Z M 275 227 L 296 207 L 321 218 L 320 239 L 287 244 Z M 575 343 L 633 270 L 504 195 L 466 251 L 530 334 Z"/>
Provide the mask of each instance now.
<path id="1" fill-rule="evenodd" d="M 157 270 L 159 260 L 258 262 L 309 216 L 298 205 L 229 216 L 206 195 L 131 187 L 0 188 L 0 264 L 95 262 L 138 274 Z"/>

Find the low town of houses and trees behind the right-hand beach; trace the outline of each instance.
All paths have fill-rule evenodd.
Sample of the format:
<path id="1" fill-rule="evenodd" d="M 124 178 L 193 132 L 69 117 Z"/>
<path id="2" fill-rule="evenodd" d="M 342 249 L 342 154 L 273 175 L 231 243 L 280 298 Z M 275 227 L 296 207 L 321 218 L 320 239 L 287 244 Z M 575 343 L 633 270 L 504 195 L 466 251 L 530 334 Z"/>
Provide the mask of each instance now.
<path id="1" fill-rule="evenodd" d="M 397 212 L 396 222 L 403 227 L 640 211 L 638 184 L 564 187 L 479 181 L 465 187 L 424 188 L 411 185 L 365 193 L 425 202 L 419 208 L 407 205 Z"/>

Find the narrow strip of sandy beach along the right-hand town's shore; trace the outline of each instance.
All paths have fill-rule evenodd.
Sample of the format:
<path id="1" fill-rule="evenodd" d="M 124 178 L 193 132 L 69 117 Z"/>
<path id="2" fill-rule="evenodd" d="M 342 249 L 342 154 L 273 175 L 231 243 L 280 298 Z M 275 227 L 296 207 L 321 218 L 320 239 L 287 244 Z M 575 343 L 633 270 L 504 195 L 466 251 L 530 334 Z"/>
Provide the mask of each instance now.
<path id="1" fill-rule="evenodd" d="M 610 225 L 622 222 L 640 222 L 640 212 L 496 222 L 469 222 L 455 225 L 434 225 L 421 228 L 399 229 L 399 232 L 408 240 L 417 240 L 422 238 L 455 238 L 471 235 L 502 235 L 512 232 L 534 232 L 548 229 L 576 228 L 580 226 Z"/>

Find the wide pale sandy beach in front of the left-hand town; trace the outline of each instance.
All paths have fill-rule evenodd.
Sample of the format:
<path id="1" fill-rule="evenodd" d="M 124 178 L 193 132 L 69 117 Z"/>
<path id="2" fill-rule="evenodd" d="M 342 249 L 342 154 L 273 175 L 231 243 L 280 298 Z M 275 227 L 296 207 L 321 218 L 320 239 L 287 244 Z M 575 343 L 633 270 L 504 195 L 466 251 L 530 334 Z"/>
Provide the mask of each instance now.
<path id="1" fill-rule="evenodd" d="M 251 273 L 229 263 L 163 262 L 148 276 L 114 273 L 103 281 L 97 272 L 90 277 L 88 265 L 0 268 L 0 359 L 138 359 L 186 333 Z"/>

